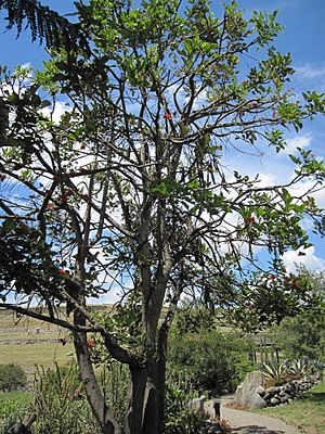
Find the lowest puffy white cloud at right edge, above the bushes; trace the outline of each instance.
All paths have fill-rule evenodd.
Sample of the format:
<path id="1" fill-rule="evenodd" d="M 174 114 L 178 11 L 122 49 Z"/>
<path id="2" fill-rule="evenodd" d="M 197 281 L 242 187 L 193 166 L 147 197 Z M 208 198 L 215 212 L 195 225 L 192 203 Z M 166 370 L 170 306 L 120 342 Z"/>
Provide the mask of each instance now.
<path id="1" fill-rule="evenodd" d="M 300 253 L 300 255 L 299 255 Z M 302 256 L 304 254 L 304 256 Z M 306 250 L 288 251 L 283 255 L 284 265 L 289 272 L 296 271 L 296 265 L 303 265 L 310 271 L 325 268 L 325 260 L 315 255 L 315 247 L 310 246 Z"/>

